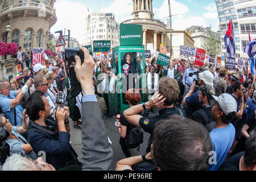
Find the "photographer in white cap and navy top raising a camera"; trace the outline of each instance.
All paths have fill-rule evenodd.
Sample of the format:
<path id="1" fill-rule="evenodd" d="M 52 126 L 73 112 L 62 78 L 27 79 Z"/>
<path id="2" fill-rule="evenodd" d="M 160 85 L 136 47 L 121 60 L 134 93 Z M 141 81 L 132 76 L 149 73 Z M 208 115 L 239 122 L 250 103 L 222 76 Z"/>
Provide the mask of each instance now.
<path id="1" fill-rule="evenodd" d="M 208 84 L 208 85 L 213 86 L 213 80 L 214 80 L 213 73 L 211 73 L 210 71 L 201 72 L 201 73 L 199 73 L 198 86 L 201 86 L 201 85 L 204 85 L 204 84 Z M 190 118 L 191 115 L 195 111 L 201 109 L 201 107 L 203 106 L 199 102 L 198 95 L 199 95 L 199 90 L 196 90 L 196 82 L 194 81 L 193 84 L 190 87 L 189 92 L 183 98 L 183 105 L 187 106 L 186 110 L 185 110 L 185 113 L 186 113 L 188 118 Z"/>

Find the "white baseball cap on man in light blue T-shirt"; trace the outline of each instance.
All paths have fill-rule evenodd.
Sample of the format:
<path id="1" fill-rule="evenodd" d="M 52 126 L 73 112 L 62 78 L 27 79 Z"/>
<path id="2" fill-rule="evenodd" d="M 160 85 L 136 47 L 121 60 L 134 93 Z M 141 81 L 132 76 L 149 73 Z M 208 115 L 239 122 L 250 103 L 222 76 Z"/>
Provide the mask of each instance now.
<path id="1" fill-rule="evenodd" d="M 218 105 L 221 107 L 221 110 L 225 115 L 229 115 L 230 113 L 237 112 L 237 102 L 228 93 L 221 94 L 220 96 L 212 96 L 214 100 L 218 102 Z"/>

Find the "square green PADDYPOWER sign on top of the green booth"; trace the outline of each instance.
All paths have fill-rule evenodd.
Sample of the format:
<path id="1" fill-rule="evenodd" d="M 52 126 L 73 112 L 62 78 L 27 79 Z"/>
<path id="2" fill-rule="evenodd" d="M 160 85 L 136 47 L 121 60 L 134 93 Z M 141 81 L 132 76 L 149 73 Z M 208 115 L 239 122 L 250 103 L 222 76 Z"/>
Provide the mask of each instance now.
<path id="1" fill-rule="evenodd" d="M 120 24 L 120 46 L 142 46 L 142 25 Z"/>

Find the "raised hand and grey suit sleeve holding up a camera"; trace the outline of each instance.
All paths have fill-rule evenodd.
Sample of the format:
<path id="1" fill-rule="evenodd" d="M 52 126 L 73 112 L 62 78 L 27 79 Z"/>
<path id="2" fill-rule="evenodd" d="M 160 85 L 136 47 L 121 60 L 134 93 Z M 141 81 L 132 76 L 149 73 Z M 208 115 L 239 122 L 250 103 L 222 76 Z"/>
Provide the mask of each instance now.
<path id="1" fill-rule="evenodd" d="M 95 63 L 89 51 L 84 52 L 84 63 L 79 56 L 76 59 L 76 77 L 82 88 L 82 170 L 108 170 L 112 163 L 113 150 L 109 146 L 101 105 L 94 95 L 92 77 Z"/>

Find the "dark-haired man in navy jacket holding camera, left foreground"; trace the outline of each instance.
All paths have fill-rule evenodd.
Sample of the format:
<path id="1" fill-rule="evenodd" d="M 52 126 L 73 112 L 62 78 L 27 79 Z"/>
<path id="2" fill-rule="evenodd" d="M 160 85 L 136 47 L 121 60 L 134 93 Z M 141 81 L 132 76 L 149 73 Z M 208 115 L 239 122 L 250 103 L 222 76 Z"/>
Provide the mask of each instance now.
<path id="1" fill-rule="evenodd" d="M 68 107 L 57 107 L 56 121 L 47 119 L 50 115 L 50 105 L 44 93 L 37 90 L 28 98 L 26 110 L 31 119 L 27 138 L 34 150 L 46 152 L 46 162 L 56 169 L 80 170 L 81 163 L 69 143 Z"/>

